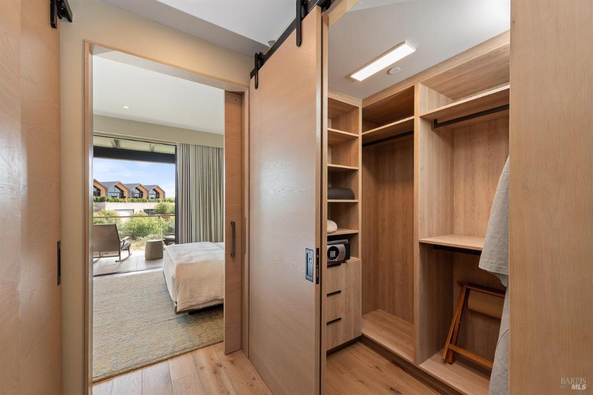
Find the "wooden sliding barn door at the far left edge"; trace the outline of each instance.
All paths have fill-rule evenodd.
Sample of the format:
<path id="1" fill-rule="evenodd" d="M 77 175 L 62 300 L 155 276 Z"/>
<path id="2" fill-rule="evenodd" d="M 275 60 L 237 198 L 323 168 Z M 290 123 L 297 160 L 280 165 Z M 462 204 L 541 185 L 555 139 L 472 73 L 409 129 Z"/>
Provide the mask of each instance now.
<path id="1" fill-rule="evenodd" d="M 2 2 L 0 37 L 0 394 L 57 395 L 60 53 L 49 1 Z"/>

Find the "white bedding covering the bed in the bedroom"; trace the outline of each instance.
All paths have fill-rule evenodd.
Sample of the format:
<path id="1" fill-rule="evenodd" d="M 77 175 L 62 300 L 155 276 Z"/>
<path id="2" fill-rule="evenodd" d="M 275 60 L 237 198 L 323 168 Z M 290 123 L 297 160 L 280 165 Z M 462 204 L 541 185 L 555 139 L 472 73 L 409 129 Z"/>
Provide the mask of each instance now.
<path id="1" fill-rule="evenodd" d="M 162 272 L 178 312 L 224 301 L 224 243 L 167 246 Z"/>

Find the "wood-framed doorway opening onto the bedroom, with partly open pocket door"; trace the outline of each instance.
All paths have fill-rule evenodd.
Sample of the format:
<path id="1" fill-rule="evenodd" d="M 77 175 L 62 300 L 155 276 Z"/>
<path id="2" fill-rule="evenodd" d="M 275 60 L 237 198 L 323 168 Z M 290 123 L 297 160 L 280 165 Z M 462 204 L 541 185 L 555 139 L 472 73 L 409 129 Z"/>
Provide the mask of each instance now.
<path id="1" fill-rule="evenodd" d="M 246 87 L 86 50 L 87 384 L 241 349 Z"/>

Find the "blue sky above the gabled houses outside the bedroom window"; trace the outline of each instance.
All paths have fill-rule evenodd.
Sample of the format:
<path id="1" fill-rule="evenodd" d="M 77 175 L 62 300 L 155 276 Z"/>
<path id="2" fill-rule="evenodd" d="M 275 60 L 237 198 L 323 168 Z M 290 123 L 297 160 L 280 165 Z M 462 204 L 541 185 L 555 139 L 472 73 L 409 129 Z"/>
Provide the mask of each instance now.
<path id="1" fill-rule="evenodd" d="M 138 182 L 158 185 L 166 197 L 175 196 L 175 165 L 173 163 L 136 162 L 132 160 L 93 159 L 93 178 L 97 181 Z"/>

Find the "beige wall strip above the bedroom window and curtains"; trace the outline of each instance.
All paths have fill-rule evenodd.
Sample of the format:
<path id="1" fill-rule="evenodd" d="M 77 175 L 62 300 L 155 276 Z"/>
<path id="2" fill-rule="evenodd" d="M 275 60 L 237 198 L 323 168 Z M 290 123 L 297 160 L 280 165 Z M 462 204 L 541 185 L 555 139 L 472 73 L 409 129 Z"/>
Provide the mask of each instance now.
<path id="1" fill-rule="evenodd" d="M 106 117 L 104 115 L 93 116 L 93 130 L 95 133 L 109 135 L 120 134 L 123 136 L 198 144 L 209 147 L 222 148 L 224 146 L 224 134 L 130 121 L 122 118 Z"/>

